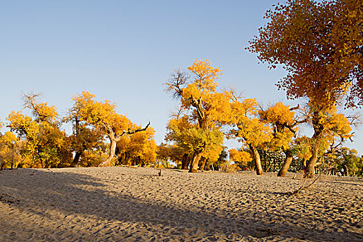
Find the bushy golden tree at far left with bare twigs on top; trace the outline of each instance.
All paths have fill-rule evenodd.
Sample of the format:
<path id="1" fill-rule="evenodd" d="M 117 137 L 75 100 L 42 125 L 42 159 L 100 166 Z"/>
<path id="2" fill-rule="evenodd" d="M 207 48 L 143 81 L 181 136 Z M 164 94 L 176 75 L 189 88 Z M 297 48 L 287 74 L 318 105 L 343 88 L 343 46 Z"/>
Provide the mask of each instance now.
<path id="1" fill-rule="evenodd" d="M 66 133 L 60 129 L 55 106 L 37 102 L 37 97 L 33 93 L 24 94 L 24 107 L 30 109 L 32 116 L 12 111 L 8 127 L 23 141 L 22 167 L 57 167 L 71 159 Z"/>

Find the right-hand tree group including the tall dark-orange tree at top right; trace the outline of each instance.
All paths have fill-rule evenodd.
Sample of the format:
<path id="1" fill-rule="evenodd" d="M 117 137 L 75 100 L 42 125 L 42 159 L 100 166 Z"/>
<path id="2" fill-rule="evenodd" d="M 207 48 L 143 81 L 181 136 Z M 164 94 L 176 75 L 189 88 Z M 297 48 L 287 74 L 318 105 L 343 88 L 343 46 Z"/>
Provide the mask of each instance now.
<path id="1" fill-rule="evenodd" d="M 273 6 L 265 18 L 268 24 L 247 49 L 270 68 L 280 64 L 286 70 L 277 86 L 289 99 L 307 100 L 303 115 L 295 116 L 295 108 L 281 103 L 264 110 L 234 91 L 216 91 L 221 71 L 207 61 L 194 62 L 187 73 L 176 71 L 167 91 L 180 99 L 180 111 L 169 122 L 167 140 L 183 149 L 183 158 L 192 157 L 192 172 L 198 160 L 203 160 L 203 169 L 205 160 L 214 159 L 211 151 L 221 149 L 223 126 L 228 127 L 227 138 L 239 138 L 250 149 L 257 174 L 262 174 L 257 148 L 280 149 L 286 159 L 279 176 L 293 156 L 301 156 L 307 178 L 314 176 L 328 148 L 332 153 L 353 135 L 352 120 L 337 113 L 337 107 L 363 104 L 363 2 L 288 0 Z M 295 138 L 300 123 L 313 128 L 311 138 Z M 230 155 L 250 159 L 243 150 Z"/>

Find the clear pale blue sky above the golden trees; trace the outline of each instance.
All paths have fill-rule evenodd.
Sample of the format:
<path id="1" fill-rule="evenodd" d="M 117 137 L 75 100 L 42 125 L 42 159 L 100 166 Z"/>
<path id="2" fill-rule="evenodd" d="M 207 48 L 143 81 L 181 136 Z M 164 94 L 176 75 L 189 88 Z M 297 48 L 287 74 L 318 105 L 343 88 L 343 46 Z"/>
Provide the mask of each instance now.
<path id="1" fill-rule="evenodd" d="M 304 104 L 277 90 L 274 84 L 286 74 L 281 68 L 270 71 L 245 50 L 274 3 L 0 0 L 0 120 L 21 111 L 22 93 L 41 93 L 40 101 L 63 116 L 72 96 L 86 90 L 116 102 L 136 124 L 150 121 L 160 144 L 178 106 L 163 84 L 195 59 L 223 70 L 222 89 L 234 86 L 262 104 Z M 353 131 L 354 142 L 346 146 L 363 155 L 363 131 Z"/>

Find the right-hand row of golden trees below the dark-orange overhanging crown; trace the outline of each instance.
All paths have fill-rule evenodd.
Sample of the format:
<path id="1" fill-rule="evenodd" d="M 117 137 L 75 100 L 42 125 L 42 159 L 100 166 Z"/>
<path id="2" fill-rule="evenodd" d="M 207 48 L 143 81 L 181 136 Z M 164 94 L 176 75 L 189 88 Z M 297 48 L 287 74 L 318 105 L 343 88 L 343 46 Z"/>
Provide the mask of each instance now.
<path id="1" fill-rule="evenodd" d="M 190 172 L 209 167 L 223 150 L 223 137 L 236 138 L 241 149 L 230 149 L 230 159 L 246 166 L 254 160 L 257 174 L 263 174 L 259 150 L 283 153 L 285 160 L 279 176 L 288 171 L 292 159 L 300 158 L 311 177 L 315 165 L 327 153 L 335 153 L 344 140 L 353 136 L 351 120 L 337 113 L 336 105 L 316 113 L 311 102 L 303 107 L 281 102 L 263 108 L 253 98 L 243 99 L 234 90 L 218 91 L 219 68 L 208 60 L 196 60 L 186 71 L 176 71 L 167 82 L 167 91 L 180 100 L 179 109 L 167 124 L 169 158 Z M 301 124 L 319 125 L 319 142 L 299 136 Z M 310 166 L 310 169 L 309 169 Z"/>

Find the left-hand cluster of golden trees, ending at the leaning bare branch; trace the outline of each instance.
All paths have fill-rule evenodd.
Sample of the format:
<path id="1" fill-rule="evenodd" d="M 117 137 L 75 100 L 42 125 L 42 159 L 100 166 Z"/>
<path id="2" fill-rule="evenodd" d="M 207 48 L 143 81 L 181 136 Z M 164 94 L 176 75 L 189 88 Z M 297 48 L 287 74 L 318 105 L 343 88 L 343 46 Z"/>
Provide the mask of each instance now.
<path id="1" fill-rule="evenodd" d="M 13 111 L 8 116 L 10 131 L 0 136 L 1 168 L 149 164 L 155 160 L 155 131 L 150 123 L 141 128 L 116 113 L 114 103 L 97 101 L 84 91 L 73 97 L 73 107 L 60 118 L 55 106 L 38 102 L 37 97 L 24 95 L 24 108 L 31 115 Z M 71 135 L 61 129 L 64 122 L 72 124 Z"/>

